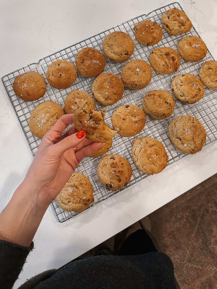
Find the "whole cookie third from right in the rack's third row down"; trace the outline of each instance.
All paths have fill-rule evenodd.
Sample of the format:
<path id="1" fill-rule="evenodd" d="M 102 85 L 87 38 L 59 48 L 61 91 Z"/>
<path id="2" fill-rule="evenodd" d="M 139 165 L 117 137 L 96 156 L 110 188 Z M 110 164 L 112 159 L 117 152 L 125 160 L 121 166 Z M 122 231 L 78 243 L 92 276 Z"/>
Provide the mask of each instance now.
<path id="1" fill-rule="evenodd" d="M 165 90 L 152 90 L 142 101 L 142 108 L 153 119 L 164 119 L 174 111 L 175 101 L 172 95 Z"/>

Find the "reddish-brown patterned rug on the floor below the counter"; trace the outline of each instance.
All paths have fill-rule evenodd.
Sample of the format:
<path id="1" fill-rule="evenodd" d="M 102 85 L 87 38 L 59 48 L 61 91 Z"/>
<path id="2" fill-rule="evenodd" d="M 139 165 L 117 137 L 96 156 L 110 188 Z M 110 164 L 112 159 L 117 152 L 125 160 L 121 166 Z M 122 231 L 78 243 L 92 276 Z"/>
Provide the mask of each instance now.
<path id="1" fill-rule="evenodd" d="M 217 288 L 217 174 L 149 215 L 181 289 Z"/>

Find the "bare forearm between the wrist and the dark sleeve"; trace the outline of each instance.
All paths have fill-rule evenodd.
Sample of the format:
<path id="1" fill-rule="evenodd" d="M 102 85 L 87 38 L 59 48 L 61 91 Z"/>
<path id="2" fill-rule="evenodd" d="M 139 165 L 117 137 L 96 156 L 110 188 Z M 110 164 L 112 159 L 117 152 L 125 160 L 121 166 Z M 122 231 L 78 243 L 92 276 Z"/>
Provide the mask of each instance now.
<path id="1" fill-rule="evenodd" d="M 0 214 L 0 239 L 30 246 L 49 203 L 38 199 L 39 188 L 26 179 Z"/>

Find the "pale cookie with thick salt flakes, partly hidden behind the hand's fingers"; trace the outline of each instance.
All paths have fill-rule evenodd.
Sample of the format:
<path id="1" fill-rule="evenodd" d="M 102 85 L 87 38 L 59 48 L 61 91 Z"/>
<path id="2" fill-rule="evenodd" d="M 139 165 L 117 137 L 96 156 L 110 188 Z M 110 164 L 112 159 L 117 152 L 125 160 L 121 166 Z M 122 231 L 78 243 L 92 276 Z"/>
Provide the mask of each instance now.
<path id="1" fill-rule="evenodd" d="M 58 103 L 52 100 L 40 103 L 30 116 L 29 127 L 32 134 L 37 138 L 43 138 L 62 115 L 64 111 Z"/>

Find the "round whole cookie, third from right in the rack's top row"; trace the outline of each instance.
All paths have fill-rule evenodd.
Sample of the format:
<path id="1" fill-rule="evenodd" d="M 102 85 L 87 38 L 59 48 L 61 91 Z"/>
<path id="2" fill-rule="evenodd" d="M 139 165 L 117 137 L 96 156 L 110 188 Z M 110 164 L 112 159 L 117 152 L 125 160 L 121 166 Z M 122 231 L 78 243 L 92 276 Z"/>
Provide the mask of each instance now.
<path id="1" fill-rule="evenodd" d="M 132 38 L 121 31 L 108 34 L 102 42 L 104 54 L 113 62 L 124 62 L 133 54 L 135 45 Z"/>

